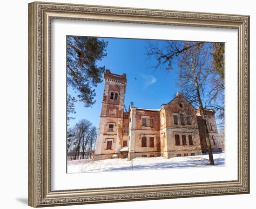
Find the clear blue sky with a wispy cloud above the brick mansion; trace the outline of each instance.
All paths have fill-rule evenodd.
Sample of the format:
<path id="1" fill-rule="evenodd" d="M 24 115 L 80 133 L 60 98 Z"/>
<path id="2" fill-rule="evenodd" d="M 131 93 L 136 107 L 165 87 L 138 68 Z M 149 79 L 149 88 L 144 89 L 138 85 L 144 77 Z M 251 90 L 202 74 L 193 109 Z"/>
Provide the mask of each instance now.
<path id="1" fill-rule="evenodd" d="M 112 73 L 127 74 L 127 88 L 125 95 L 125 105 L 128 109 L 130 102 L 134 102 L 135 107 L 159 109 L 161 104 L 168 103 L 179 89 L 175 85 L 177 72 L 164 72 L 161 69 L 152 68 L 156 64 L 155 59 L 149 59 L 146 55 L 148 40 L 143 39 L 117 39 L 104 38 L 108 41 L 107 56 L 97 65 L 105 65 Z M 150 40 L 161 46 L 163 41 Z M 136 79 L 135 79 L 136 78 Z M 101 101 L 103 95 L 104 81 L 95 88 L 96 103 L 89 108 L 85 108 L 81 102 L 75 104 L 76 114 L 71 125 L 81 119 L 88 119 L 96 127 L 99 124 Z M 72 89 L 68 88 L 68 93 L 75 96 Z"/>

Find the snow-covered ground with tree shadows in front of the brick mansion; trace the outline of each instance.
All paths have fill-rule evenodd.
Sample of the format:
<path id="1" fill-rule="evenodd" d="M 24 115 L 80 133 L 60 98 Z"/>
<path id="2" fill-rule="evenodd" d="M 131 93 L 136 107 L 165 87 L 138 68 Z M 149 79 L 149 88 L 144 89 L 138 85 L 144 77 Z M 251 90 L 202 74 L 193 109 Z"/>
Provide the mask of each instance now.
<path id="1" fill-rule="evenodd" d="M 214 166 L 224 166 L 225 153 L 214 153 Z M 207 154 L 188 157 L 173 157 L 165 159 L 163 157 L 136 157 L 128 161 L 126 159 L 107 160 L 72 160 L 67 161 L 67 173 L 98 172 L 115 170 L 148 170 L 148 169 L 170 169 L 212 166 L 209 165 Z"/>

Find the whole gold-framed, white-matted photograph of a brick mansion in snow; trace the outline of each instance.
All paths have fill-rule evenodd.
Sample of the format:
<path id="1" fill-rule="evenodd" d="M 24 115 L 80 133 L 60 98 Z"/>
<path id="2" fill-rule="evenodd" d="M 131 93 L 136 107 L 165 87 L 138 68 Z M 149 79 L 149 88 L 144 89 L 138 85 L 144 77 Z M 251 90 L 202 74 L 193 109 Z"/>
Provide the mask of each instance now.
<path id="1" fill-rule="evenodd" d="M 28 4 L 28 204 L 249 193 L 249 16 Z"/>

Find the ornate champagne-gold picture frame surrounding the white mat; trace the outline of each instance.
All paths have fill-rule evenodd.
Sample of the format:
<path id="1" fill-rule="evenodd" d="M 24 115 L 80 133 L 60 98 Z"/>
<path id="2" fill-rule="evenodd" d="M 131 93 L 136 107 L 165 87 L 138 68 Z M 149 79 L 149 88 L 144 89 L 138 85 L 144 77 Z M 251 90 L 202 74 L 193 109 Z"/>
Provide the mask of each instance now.
<path id="1" fill-rule="evenodd" d="M 52 191 L 50 185 L 51 19 L 238 29 L 238 180 Z M 249 193 L 249 16 L 89 6 L 28 4 L 28 204 L 33 207 Z"/>

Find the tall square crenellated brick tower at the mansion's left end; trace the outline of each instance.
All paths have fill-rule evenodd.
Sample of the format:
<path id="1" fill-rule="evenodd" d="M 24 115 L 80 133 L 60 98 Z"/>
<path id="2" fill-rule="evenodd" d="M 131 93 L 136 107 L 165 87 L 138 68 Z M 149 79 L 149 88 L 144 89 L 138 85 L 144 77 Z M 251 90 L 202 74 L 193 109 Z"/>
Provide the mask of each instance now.
<path id="1" fill-rule="evenodd" d="M 106 70 L 104 81 L 94 160 L 119 157 L 122 143 L 126 74 L 117 75 Z"/>

